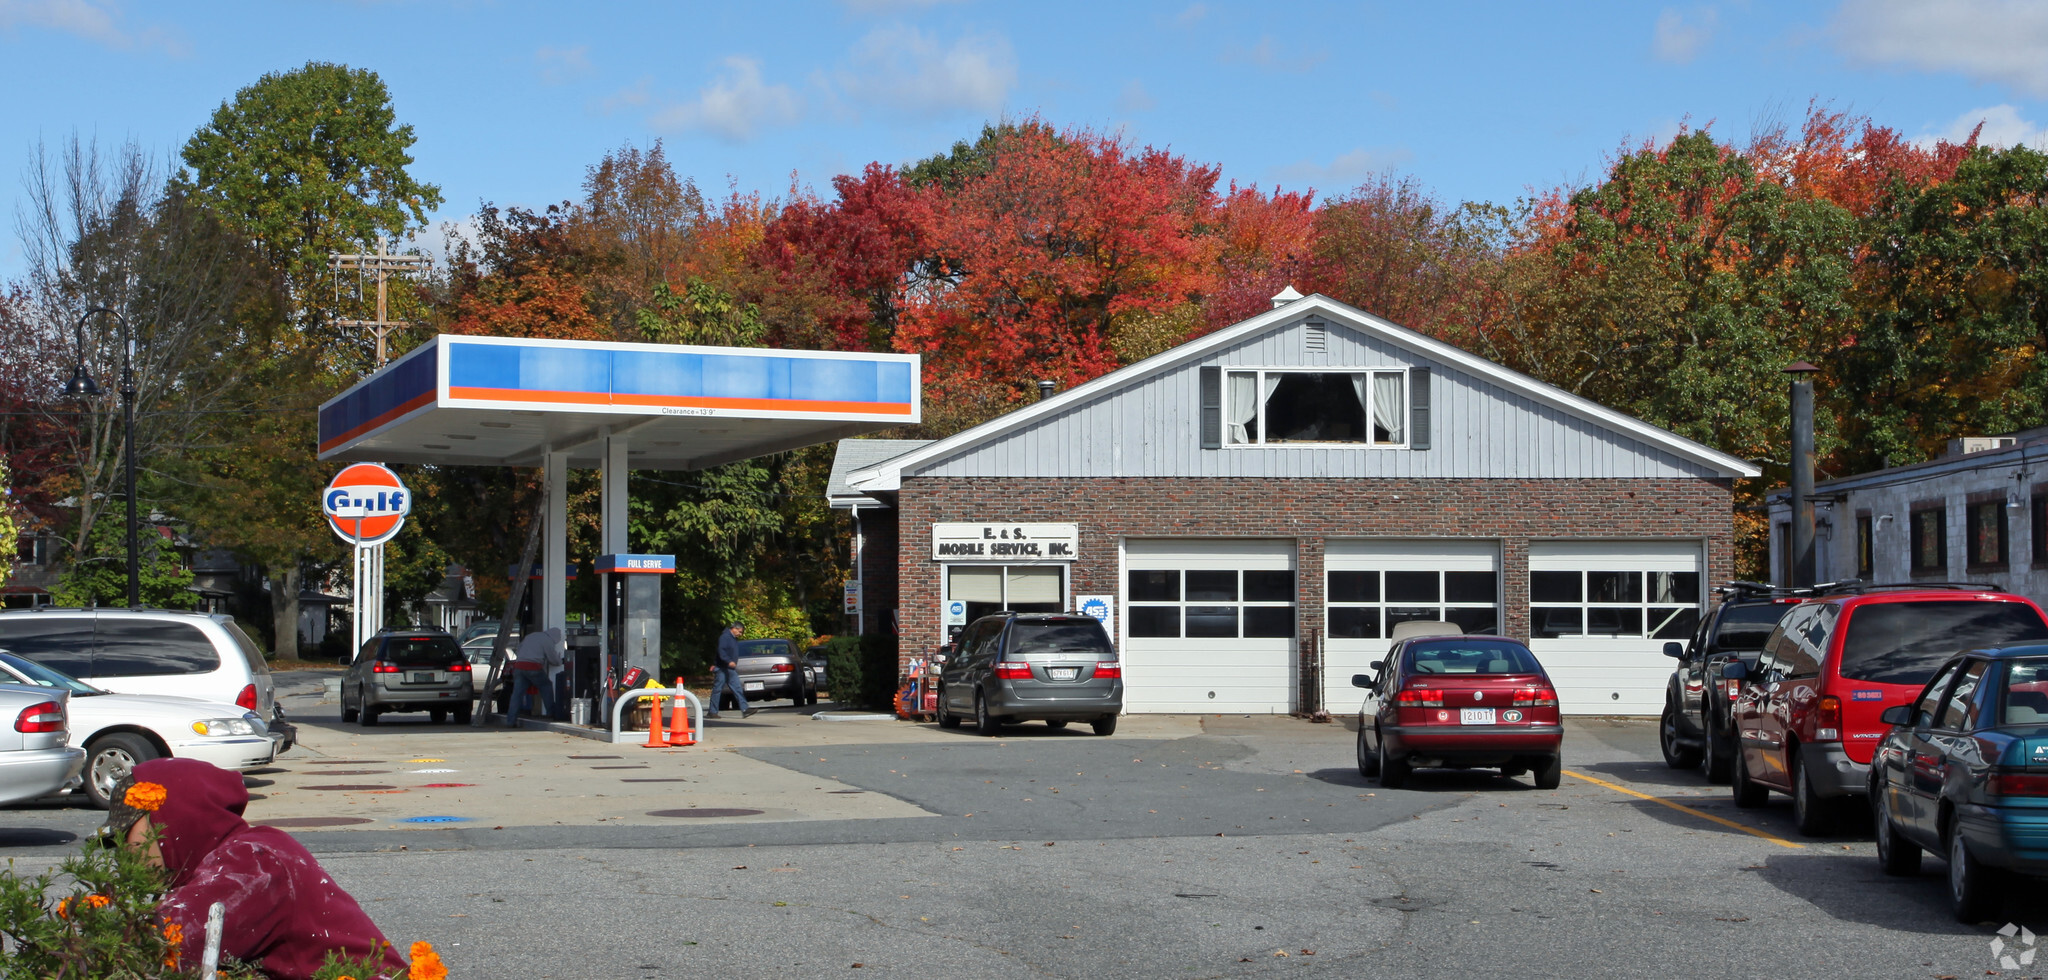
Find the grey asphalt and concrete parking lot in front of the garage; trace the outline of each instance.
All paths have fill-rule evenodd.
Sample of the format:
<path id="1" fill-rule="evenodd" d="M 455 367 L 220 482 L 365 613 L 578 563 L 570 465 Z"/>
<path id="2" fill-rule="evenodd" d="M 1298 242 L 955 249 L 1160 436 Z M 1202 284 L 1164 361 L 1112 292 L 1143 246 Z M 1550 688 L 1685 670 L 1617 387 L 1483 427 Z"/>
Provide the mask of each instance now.
<path id="1" fill-rule="evenodd" d="M 2048 972 L 1999 970 L 2003 923 L 1954 923 L 1939 861 L 1890 880 L 1868 837 L 1735 810 L 1663 767 L 1649 720 L 1575 720 L 1556 792 L 1462 771 L 1386 792 L 1350 730 L 1292 718 L 989 739 L 768 706 L 641 749 L 285 704 L 305 745 L 252 777 L 250 816 L 360 820 L 293 833 L 455 976 Z M 29 867 L 96 814 L 0 822 Z M 2007 917 L 2048 931 L 2044 910 Z"/>

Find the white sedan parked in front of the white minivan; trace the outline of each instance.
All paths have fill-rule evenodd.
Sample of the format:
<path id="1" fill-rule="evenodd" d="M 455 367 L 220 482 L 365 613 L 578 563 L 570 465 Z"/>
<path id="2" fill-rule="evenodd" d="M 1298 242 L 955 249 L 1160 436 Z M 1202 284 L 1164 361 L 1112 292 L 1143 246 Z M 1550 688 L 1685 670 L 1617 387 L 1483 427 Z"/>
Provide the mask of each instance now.
<path id="1" fill-rule="evenodd" d="M 86 749 L 84 790 L 92 806 L 150 759 L 199 759 L 221 769 L 270 765 L 270 728 L 236 704 L 156 694 L 109 694 L 63 671 L 0 653 L 0 681 L 57 687 L 72 694 L 72 745 Z"/>

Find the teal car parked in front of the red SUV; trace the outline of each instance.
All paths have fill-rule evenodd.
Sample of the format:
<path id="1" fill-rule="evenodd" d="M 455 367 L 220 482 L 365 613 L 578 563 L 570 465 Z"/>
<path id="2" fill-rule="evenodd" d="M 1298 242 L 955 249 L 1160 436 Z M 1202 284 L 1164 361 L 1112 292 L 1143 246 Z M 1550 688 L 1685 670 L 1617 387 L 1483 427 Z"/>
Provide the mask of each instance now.
<path id="1" fill-rule="evenodd" d="M 2019 878 L 2048 876 L 2048 644 L 1958 653 L 1880 718 L 1892 728 L 1872 757 L 1870 808 L 1884 874 L 1919 874 L 1923 851 L 1946 857 L 1964 923 L 1993 919 Z"/>

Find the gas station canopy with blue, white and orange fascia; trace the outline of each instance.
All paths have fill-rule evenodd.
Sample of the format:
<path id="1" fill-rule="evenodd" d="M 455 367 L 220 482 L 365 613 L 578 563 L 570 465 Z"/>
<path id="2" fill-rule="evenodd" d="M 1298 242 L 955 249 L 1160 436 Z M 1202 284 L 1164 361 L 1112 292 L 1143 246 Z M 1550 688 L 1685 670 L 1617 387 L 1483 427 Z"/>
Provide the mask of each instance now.
<path id="1" fill-rule="evenodd" d="M 438 336 L 319 407 L 319 458 L 694 471 L 922 417 L 915 354 Z"/>

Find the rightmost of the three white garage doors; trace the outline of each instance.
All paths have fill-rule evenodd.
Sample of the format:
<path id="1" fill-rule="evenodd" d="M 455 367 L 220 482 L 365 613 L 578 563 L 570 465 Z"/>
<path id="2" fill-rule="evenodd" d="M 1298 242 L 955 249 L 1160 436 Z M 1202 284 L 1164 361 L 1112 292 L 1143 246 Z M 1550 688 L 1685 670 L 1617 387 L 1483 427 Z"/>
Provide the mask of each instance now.
<path id="1" fill-rule="evenodd" d="M 1657 714 L 1700 624 L 1698 542 L 1532 542 L 1530 649 L 1565 714 Z"/>

